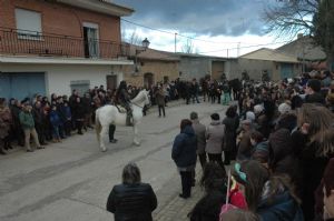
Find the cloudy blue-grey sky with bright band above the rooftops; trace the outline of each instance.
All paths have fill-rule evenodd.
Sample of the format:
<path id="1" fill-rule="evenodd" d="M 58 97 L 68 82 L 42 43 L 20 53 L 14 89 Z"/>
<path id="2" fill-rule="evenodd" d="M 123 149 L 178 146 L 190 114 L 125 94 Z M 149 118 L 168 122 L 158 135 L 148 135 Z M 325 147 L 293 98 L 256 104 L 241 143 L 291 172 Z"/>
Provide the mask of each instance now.
<path id="1" fill-rule="evenodd" d="M 263 13 L 277 0 L 114 0 L 135 9 L 122 17 L 122 38 L 135 33 L 149 48 L 217 57 L 237 57 L 259 48 L 278 48 L 286 39 L 265 31 Z M 279 2 L 278 2 L 279 3 Z"/>

